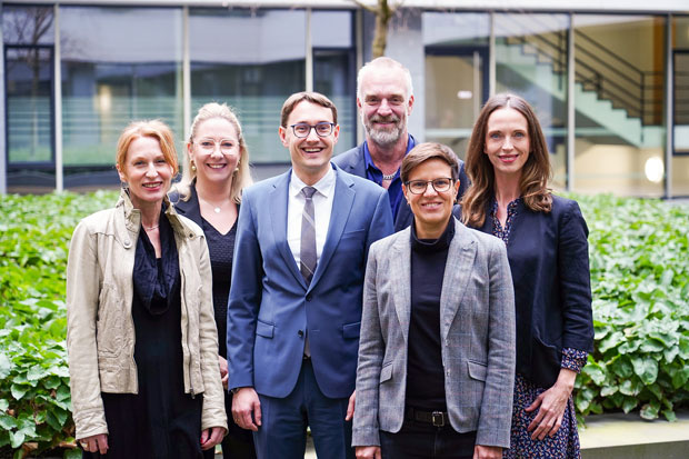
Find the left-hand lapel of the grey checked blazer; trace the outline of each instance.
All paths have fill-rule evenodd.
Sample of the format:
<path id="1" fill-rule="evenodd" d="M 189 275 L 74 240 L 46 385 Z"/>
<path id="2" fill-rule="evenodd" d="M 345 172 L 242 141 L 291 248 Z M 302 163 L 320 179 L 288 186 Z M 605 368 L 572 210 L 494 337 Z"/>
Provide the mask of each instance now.
<path id="1" fill-rule="evenodd" d="M 398 232 L 397 240 L 390 253 L 390 285 L 392 302 L 397 311 L 397 319 L 402 329 L 405 343 L 409 342 L 409 321 L 411 318 L 411 242 L 410 229 Z"/>

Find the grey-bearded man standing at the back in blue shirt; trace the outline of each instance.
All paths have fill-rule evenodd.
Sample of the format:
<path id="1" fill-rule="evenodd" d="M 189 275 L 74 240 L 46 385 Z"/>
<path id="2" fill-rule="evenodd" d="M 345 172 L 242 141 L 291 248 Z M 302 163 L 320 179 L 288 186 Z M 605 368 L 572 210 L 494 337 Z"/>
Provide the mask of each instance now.
<path id="1" fill-rule="evenodd" d="M 390 58 L 377 58 L 359 70 L 357 107 L 366 130 L 363 143 L 338 154 L 332 162 L 343 171 L 363 177 L 388 190 L 395 231 L 411 224 L 413 216 L 402 196 L 400 166 L 417 140 L 407 131 L 407 119 L 413 108 L 411 73 Z M 465 162 L 459 160 L 461 198 L 469 179 Z"/>

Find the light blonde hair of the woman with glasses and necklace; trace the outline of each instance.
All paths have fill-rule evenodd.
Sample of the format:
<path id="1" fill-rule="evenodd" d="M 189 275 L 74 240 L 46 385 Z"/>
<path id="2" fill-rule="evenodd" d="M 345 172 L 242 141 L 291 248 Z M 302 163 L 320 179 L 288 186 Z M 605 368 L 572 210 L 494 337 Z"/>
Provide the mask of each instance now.
<path id="1" fill-rule="evenodd" d="M 179 192 L 181 200 L 189 200 L 189 197 L 191 196 L 189 188 L 191 187 L 191 182 L 197 177 L 197 172 L 191 170 L 191 157 L 189 156 L 189 148 L 191 147 L 191 143 L 193 143 L 193 138 L 199 131 L 199 126 L 201 126 L 204 121 L 214 118 L 228 121 L 237 131 L 240 157 L 239 164 L 234 170 L 234 177 L 232 178 L 230 199 L 234 203 L 240 203 L 241 190 L 252 183 L 251 172 L 249 171 L 249 150 L 247 148 L 247 142 L 244 141 L 244 136 L 241 131 L 241 124 L 239 123 L 239 119 L 237 118 L 234 111 L 227 106 L 227 103 L 210 102 L 199 109 L 199 112 L 197 113 L 193 122 L 191 123 L 191 133 L 189 134 L 187 148 L 184 149 L 184 168 L 182 169 L 182 179 L 179 183 L 176 184 L 176 189 Z"/>

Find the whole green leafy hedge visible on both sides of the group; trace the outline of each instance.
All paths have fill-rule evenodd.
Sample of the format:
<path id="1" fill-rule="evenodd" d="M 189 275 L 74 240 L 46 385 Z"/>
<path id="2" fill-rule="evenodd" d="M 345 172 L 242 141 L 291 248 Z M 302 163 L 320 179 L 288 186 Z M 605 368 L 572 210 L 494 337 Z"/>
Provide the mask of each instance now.
<path id="1" fill-rule="evenodd" d="M 575 197 L 590 229 L 596 351 L 577 379 L 580 416 L 689 406 L 689 208 Z M 72 229 L 117 193 L 0 197 L 0 450 L 73 446 L 64 345 Z"/>

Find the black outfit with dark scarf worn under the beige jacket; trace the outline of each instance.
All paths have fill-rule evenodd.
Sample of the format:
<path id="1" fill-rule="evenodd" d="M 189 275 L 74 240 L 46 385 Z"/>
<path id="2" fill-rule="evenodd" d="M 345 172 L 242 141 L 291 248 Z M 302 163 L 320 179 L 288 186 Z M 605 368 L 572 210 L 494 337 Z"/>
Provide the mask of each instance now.
<path id="1" fill-rule="evenodd" d="M 202 397 L 184 393 L 179 259 L 164 214 L 159 231 L 158 259 L 146 231 L 139 231 L 132 273 L 139 393 L 101 395 L 109 431 L 108 458 L 202 457 Z"/>

